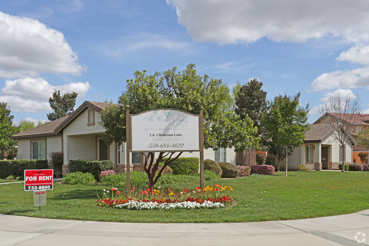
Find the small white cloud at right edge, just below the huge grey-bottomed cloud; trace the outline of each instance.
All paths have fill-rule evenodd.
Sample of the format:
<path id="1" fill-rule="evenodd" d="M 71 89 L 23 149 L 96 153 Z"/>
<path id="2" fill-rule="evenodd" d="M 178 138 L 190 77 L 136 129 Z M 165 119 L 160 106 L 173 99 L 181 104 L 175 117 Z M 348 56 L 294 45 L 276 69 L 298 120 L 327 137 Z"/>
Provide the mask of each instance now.
<path id="1" fill-rule="evenodd" d="M 336 60 L 369 65 L 369 45 L 352 46 L 339 54 Z"/>

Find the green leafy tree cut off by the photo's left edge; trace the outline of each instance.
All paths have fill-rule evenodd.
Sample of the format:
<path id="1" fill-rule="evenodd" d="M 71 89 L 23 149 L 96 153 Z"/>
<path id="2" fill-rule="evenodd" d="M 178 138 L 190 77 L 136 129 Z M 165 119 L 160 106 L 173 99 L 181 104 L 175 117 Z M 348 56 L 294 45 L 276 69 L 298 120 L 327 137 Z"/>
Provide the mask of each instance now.
<path id="1" fill-rule="evenodd" d="M 11 136 L 19 132 L 18 127 L 13 126 L 13 115 L 10 115 L 10 109 L 7 103 L 0 103 L 0 156 L 12 157 L 14 155 L 16 142 L 10 139 Z"/>

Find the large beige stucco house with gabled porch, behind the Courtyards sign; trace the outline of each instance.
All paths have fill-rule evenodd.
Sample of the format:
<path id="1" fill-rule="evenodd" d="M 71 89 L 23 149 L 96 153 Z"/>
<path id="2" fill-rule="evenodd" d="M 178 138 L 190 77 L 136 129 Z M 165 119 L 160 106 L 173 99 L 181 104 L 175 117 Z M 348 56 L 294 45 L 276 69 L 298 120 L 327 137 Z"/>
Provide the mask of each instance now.
<path id="1" fill-rule="evenodd" d="M 63 175 L 69 172 L 69 160 L 111 160 L 118 173 L 126 171 L 125 143 L 107 146 L 101 140 L 105 134 L 100 112 L 110 103 L 85 101 L 72 114 L 11 137 L 18 140 L 18 159 L 48 159 L 54 151 L 64 153 Z M 184 152 L 181 157 L 200 157 L 199 152 Z M 234 149 L 204 150 L 204 159 L 235 164 Z M 143 170 L 141 153 L 130 153 L 131 170 Z"/>

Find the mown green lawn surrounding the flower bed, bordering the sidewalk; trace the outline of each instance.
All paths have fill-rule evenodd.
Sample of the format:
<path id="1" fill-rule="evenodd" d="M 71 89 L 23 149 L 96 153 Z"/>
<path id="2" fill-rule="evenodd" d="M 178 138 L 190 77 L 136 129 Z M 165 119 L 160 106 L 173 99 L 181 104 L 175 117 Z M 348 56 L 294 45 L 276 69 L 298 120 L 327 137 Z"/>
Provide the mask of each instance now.
<path id="1" fill-rule="evenodd" d="M 61 185 L 47 191 L 47 205 L 33 205 L 23 183 L 0 186 L 0 213 L 55 219 L 150 223 L 249 222 L 314 218 L 369 209 L 369 172 L 290 171 L 207 182 L 232 186 L 237 205 L 225 209 L 131 211 L 95 206 L 101 186 Z M 174 189 L 198 184 L 175 184 Z"/>

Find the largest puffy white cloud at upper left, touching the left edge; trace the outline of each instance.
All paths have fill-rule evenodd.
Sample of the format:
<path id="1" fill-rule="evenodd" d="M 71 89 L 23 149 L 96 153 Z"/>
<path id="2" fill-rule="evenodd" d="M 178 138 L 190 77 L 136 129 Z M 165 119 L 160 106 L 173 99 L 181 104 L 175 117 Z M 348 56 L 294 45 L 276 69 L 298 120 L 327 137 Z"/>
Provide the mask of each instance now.
<path id="1" fill-rule="evenodd" d="M 0 11 L 0 77 L 36 77 L 40 73 L 80 75 L 84 66 L 62 32 L 41 22 Z"/>

